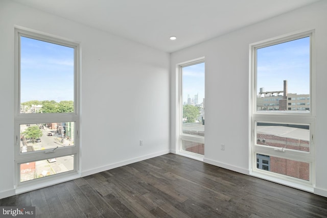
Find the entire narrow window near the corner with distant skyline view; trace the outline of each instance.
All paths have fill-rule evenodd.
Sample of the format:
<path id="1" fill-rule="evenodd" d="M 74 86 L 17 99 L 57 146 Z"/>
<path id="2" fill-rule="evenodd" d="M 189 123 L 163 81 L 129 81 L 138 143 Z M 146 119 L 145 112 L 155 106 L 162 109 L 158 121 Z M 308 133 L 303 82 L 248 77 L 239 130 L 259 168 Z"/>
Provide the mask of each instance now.
<path id="1" fill-rule="evenodd" d="M 180 151 L 204 155 L 204 60 L 179 65 Z"/>

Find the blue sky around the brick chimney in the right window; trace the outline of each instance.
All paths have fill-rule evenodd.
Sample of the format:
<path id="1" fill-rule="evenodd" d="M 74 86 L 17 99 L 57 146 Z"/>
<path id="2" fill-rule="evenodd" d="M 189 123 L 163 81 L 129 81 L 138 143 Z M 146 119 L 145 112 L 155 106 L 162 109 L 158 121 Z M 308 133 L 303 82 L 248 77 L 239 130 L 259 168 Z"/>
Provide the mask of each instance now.
<path id="1" fill-rule="evenodd" d="M 257 50 L 257 94 L 283 90 L 284 80 L 288 93 L 310 94 L 310 37 Z"/>

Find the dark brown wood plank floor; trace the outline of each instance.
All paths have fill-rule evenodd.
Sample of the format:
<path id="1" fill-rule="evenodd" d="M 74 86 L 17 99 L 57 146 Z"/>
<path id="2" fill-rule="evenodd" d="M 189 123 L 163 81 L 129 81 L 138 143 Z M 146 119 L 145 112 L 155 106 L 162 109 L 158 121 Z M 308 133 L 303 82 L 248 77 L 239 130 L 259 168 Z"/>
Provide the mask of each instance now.
<path id="1" fill-rule="evenodd" d="M 0 200 L 36 217 L 327 217 L 327 198 L 162 155 Z"/>

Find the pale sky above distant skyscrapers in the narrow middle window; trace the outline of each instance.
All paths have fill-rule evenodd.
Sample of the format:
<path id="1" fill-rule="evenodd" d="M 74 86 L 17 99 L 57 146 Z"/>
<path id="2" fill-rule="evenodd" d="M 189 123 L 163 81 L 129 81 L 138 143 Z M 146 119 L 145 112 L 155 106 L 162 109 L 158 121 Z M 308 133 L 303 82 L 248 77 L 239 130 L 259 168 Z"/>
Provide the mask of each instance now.
<path id="1" fill-rule="evenodd" d="M 183 103 L 188 102 L 188 95 L 193 99 L 199 93 L 199 103 L 204 97 L 204 62 L 183 67 Z"/>

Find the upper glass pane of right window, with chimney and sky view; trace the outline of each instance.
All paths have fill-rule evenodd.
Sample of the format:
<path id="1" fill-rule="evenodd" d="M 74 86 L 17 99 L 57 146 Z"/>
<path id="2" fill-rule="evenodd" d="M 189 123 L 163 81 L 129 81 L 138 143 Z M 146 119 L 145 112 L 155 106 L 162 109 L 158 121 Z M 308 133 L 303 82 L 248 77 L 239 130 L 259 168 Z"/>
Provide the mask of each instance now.
<path id="1" fill-rule="evenodd" d="M 256 58 L 257 111 L 310 110 L 310 37 L 257 49 Z"/>

